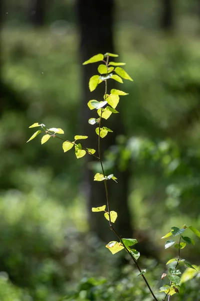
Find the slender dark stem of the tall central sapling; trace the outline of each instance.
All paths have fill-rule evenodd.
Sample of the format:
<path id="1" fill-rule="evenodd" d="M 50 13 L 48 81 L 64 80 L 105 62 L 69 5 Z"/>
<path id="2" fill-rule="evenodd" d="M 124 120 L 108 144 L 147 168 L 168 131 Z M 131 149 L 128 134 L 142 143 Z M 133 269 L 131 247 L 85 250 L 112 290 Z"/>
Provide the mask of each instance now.
<path id="1" fill-rule="evenodd" d="M 108 66 L 108 59 L 109 59 L 109 57 L 107 56 L 106 63 L 105 63 L 106 67 Z M 107 70 L 108 70 L 108 67 L 107 67 Z M 105 92 L 104 92 L 104 97 L 103 98 L 105 98 L 106 93 L 107 93 L 107 80 L 105 80 Z M 98 133 L 99 133 L 98 134 L 98 158 L 99 158 L 99 162 L 100 162 L 100 165 L 101 165 L 101 170 L 102 170 L 103 177 L 105 178 L 105 173 L 104 173 L 102 159 L 101 159 L 101 152 L 100 152 L 100 124 L 101 124 L 101 119 L 102 119 L 102 110 L 103 110 L 103 108 L 101 108 L 100 120 L 99 120 L 99 124 L 98 124 L 98 128 L 99 128 L 99 131 L 98 131 Z M 104 186 L 105 186 L 107 211 L 108 211 L 108 217 L 109 217 L 109 227 L 114 232 L 114 234 L 117 236 L 117 238 L 119 239 L 120 243 L 123 245 L 123 247 L 126 250 L 126 252 L 128 252 L 128 254 L 130 255 L 130 257 L 134 261 L 137 269 L 141 273 L 141 269 L 140 269 L 140 267 L 139 267 L 136 259 L 134 258 L 134 256 L 132 255 L 132 253 L 127 249 L 127 247 L 124 245 L 121 237 L 119 236 L 119 234 L 116 232 L 116 230 L 112 226 L 111 219 L 110 219 L 110 207 L 109 207 L 109 197 L 108 197 L 108 190 L 107 190 L 107 180 L 104 180 Z M 157 298 L 155 297 L 153 291 L 151 290 L 150 285 L 148 284 L 148 281 L 146 280 L 145 276 L 143 274 L 141 276 L 142 276 L 143 280 L 145 281 L 145 283 L 146 283 L 146 285 L 147 285 L 147 287 L 148 287 L 148 289 L 149 289 L 152 297 L 154 298 L 154 300 L 158 301 Z"/>

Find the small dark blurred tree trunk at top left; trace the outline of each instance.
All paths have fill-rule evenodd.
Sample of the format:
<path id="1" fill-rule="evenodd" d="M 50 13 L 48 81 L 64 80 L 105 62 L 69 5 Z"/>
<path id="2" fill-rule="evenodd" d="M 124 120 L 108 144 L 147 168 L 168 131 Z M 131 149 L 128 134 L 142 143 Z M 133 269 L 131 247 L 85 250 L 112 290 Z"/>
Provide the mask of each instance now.
<path id="1" fill-rule="evenodd" d="M 29 20 L 34 27 L 41 27 L 44 24 L 46 0 L 30 0 Z"/>

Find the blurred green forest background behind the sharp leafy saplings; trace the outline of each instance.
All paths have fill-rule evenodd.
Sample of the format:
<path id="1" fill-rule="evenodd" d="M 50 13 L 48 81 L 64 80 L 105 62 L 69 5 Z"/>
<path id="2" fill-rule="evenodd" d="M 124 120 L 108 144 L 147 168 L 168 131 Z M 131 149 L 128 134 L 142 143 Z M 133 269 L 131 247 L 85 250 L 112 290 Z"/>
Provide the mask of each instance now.
<path id="1" fill-rule="evenodd" d="M 119 54 L 134 81 L 117 86 L 129 95 L 103 139 L 105 168 L 119 179 L 109 183 L 111 208 L 119 233 L 139 241 L 152 287 L 168 284 L 160 275 L 177 250 L 164 250 L 160 237 L 172 226 L 200 228 L 200 1 L 0 6 L 0 300 L 151 300 L 124 252 L 105 249 L 114 238 L 106 220 L 90 214 L 105 203 L 103 185 L 92 180 L 98 165 L 64 154 L 58 139 L 26 144 L 28 126 L 61 127 L 69 140 L 89 134 L 95 147 L 86 102 L 102 93 L 87 87 L 97 64 L 81 64 Z M 194 239 L 181 256 L 200 265 Z M 199 279 L 181 283 L 173 300 L 200 300 Z"/>

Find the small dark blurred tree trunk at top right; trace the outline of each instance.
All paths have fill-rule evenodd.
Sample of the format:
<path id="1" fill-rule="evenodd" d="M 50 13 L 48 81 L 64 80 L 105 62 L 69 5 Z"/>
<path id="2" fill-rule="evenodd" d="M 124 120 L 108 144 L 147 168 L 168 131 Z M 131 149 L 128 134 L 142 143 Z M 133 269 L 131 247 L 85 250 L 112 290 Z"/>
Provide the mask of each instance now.
<path id="1" fill-rule="evenodd" d="M 173 6 L 172 1 L 174 0 L 161 0 L 161 20 L 160 27 L 164 31 L 171 31 L 173 29 Z"/>

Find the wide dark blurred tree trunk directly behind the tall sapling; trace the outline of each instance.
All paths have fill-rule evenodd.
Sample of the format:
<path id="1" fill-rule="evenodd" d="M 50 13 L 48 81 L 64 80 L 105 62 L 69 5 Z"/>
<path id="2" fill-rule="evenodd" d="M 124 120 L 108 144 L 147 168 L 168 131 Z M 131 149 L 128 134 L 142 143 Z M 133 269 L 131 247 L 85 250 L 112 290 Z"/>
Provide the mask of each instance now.
<path id="1" fill-rule="evenodd" d="M 113 53 L 113 0 L 77 0 L 77 18 L 80 31 L 80 59 L 84 62 L 89 57 L 97 53 L 111 52 Z M 113 60 L 113 58 L 112 58 Z M 92 75 L 97 74 L 98 64 L 89 64 L 82 66 L 82 108 L 80 120 L 81 134 L 89 136 L 87 139 L 87 147 L 95 148 L 97 151 L 97 135 L 95 133 L 95 125 L 88 124 L 90 117 L 96 117 L 94 110 L 90 111 L 87 102 L 90 99 L 102 100 L 104 94 L 104 82 L 101 83 L 96 90 L 90 92 L 88 89 L 88 81 Z M 113 80 L 108 81 L 108 91 L 115 86 Z M 120 105 L 119 105 L 120 111 Z M 120 114 L 112 115 L 108 120 L 103 119 L 103 125 L 110 126 L 113 133 L 107 135 L 105 139 L 101 139 L 102 154 L 110 145 L 115 144 L 115 137 L 123 132 Z M 105 190 L 103 182 L 94 182 L 94 171 L 88 169 L 89 164 L 93 162 L 92 156 L 87 156 L 85 166 L 85 175 L 83 190 L 88 201 L 88 218 L 90 230 L 97 236 L 108 242 L 115 239 L 114 234 L 109 230 L 108 222 L 104 219 L 103 214 L 92 213 L 91 207 L 97 207 L 106 204 Z M 98 170 L 101 172 L 101 170 Z M 111 210 L 118 212 L 118 218 L 114 224 L 116 230 L 124 237 L 132 237 L 132 229 L 130 223 L 130 214 L 127 205 L 128 195 L 128 171 L 118 172 L 117 167 L 113 167 L 111 171 L 118 178 L 118 184 L 114 181 L 108 181 L 108 193 L 110 199 Z"/>

